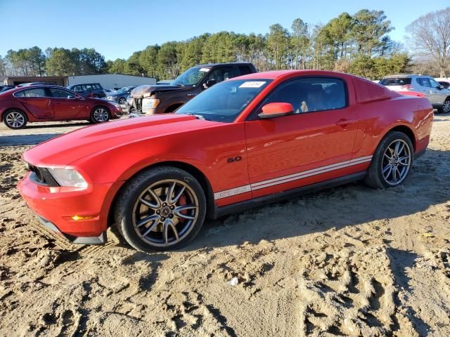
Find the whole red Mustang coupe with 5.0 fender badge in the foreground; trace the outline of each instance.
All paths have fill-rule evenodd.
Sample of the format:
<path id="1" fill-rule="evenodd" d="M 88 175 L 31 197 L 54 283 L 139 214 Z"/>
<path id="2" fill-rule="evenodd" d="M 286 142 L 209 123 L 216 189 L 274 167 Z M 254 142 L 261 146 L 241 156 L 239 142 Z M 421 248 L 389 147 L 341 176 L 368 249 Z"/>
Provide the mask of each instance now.
<path id="1" fill-rule="evenodd" d="M 176 249 L 206 217 L 354 180 L 404 182 L 432 128 L 425 98 L 348 74 L 279 71 L 217 84 L 175 114 L 79 129 L 23 154 L 44 225 L 102 244 Z"/>

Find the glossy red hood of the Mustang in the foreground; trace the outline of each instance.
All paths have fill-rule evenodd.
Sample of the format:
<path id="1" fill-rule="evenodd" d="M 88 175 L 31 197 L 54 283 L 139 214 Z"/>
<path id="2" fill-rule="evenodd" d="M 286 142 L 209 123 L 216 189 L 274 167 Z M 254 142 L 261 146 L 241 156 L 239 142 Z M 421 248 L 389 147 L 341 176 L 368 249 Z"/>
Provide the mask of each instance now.
<path id="1" fill-rule="evenodd" d="M 70 166 L 74 161 L 115 147 L 214 124 L 219 123 L 196 119 L 186 114 L 164 114 L 110 121 L 47 140 L 25 152 L 23 159 L 34 166 Z"/>

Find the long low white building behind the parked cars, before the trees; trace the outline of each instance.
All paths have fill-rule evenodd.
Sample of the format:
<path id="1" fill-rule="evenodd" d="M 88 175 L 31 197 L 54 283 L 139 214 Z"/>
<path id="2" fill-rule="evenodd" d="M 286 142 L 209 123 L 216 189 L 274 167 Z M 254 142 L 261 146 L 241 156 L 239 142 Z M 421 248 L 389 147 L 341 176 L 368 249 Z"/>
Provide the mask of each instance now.
<path id="1" fill-rule="evenodd" d="M 156 84 L 153 77 L 141 77 L 122 74 L 82 75 L 69 76 L 69 85 L 84 83 L 99 83 L 105 89 L 122 88 L 123 86 L 141 86 L 143 84 Z"/>

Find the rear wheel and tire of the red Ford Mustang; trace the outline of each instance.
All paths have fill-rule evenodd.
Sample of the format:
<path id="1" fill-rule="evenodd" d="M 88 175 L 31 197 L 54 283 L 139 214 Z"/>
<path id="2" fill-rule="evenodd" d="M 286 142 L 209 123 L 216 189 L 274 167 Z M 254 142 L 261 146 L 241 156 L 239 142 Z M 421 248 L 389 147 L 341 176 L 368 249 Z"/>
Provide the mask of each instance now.
<path id="1" fill-rule="evenodd" d="M 398 148 L 395 147 L 397 143 L 399 144 Z M 399 154 L 395 154 L 397 149 Z M 385 154 L 387 154 L 387 157 Z M 413 144 L 406 134 L 399 131 L 387 133 L 375 150 L 365 183 L 373 188 L 401 185 L 411 171 L 413 157 Z"/>

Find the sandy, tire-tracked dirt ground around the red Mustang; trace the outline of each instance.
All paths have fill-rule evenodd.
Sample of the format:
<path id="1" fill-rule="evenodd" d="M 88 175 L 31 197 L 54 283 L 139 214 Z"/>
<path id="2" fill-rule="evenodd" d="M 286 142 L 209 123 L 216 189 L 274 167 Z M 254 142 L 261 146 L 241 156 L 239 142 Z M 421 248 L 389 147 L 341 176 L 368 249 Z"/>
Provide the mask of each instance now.
<path id="1" fill-rule="evenodd" d="M 404 187 L 233 214 L 153 254 L 68 244 L 20 199 L 20 154 L 84 125 L 0 126 L 0 336 L 450 336 L 449 115 Z"/>

